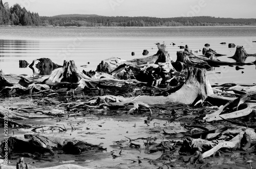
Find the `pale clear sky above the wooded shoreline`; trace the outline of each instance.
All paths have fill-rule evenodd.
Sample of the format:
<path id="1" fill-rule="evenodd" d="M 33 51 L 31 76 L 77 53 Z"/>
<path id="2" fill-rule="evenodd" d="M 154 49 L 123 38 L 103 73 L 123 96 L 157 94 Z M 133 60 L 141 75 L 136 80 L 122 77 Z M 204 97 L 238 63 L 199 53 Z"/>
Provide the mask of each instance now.
<path id="1" fill-rule="evenodd" d="M 256 18 L 255 0 L 3 0 L 40 16 L 97 14 L 102 16 L 215 16 Z"/>

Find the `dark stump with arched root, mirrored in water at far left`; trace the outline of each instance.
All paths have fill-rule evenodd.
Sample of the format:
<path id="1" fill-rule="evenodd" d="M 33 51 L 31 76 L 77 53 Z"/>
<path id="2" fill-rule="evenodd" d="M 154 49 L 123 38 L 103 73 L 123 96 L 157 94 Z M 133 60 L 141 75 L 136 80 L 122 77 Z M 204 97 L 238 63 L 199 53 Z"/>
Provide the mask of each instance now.
<path id="1" fill-rule="evenodd" d="M 35 59 L 29 65 L 29 67 L 33 70 L 33 74 L 35 74 L 33 65 L 37 60 L 39 61 L 39 63 L 37 63 L 35 67 L 38 68 L 40 75 L 51 75 L 54 69 L 61 67 L 60 65 L 53 63 L 52 60 L 49 58 Z"/>

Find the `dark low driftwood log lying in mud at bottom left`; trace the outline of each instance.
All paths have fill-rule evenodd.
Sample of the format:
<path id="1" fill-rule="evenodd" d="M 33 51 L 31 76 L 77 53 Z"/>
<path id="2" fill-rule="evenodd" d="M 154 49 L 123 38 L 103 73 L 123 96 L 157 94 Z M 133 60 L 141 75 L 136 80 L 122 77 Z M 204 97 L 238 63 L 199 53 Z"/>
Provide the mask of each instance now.
<path id="1" fill-rule="evenodd" d="M 2 142 L 2 145 L 3 142 Z M 59 137 L 48 137 L 43 135 L 26 134 L 24 138 L 9 137 L 8 138 L 8 155 L 9 157 L 15 153 L 48 153 L 50 156 L 55 154 L 54 151 L 62 150 L 67 154 L 81 154 L 82 152 L 91 150 L 106 150 L 102 146 L 91 144 L 80 140 L 63 139 Z M 2 154 L 5 153 L 4 146 Z"/>

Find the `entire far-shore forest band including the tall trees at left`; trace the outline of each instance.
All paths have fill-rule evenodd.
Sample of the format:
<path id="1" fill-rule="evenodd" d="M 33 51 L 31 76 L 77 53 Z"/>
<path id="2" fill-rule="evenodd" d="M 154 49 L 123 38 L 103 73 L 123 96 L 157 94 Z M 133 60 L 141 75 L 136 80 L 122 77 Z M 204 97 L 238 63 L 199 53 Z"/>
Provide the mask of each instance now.
<path id="1" fill-rule="evenodd" d="M 55 27 L 177 27 L 177 26 L 255 26 L 256 19 L 217 18 L 211 16 L 195 17 L 128 17 L 98 15 L 58 15 L 39 16 L 15 4 L 9 8 L 8 3 L 0 0 L 0 25 L 19 26 L 55 26 Z"/>

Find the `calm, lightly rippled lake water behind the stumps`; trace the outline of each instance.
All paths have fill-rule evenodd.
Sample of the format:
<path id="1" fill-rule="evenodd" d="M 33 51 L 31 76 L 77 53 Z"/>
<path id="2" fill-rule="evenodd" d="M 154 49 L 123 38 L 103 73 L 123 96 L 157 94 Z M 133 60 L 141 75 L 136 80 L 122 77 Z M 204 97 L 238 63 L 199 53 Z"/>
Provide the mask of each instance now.
<path id="1" fill-rule="evenodd" d="M 150 55 L 157 53 L 156 42 L 164 42 L 170 56 L 176 61 L 180 45 L 202 55 L 205 43 L 219 54 L 221 61 L 235 62 L 236 48 L 229 49 L 228 43 L 242 45 L 248 54 L 256 53 L 256 27 L 157 27 L 157 28 L 42 28 L 0 27 L 0 69 L 4 73 L 32 75 L 32 69 L 19 68 L 19 60 L 32 63 L 34 59 L 50 58 L 62 65 L 63 60 L 74 60 L 82 70 L 96 70 L 101 60 L 111 57 L 121 59 L 141 58 L 143 50 Z M 174 42 L 176 45 L 173 45 Z M 226 42 L 227 44 L 220 44 Z M 131 53 L 135 52 L 135 56 Z M 248 57 L 245 62 L 255 61 Z M 90 64 L 88 64 L 90 62 Z M 80 67 L 87 64 L 86 68 Z M 255 65 L 214 67 L 208 71 L 211 84 L 256 83 Z M 242 71 L 244 72 L 242 74 Z"/>

